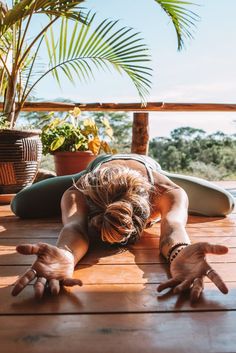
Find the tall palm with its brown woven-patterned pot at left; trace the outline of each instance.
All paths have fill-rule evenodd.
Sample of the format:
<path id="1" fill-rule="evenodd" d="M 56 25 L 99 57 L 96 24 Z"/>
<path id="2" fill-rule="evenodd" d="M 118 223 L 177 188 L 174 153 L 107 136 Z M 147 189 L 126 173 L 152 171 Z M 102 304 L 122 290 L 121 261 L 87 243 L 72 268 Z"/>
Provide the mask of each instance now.
<path id="1" fill-rule="evenodd" d="M 71 82 L 75 77 L 88 81 L 94 69 L 110 66 L 128 75 L 141 101 L 145 101 L 151 75 L 146 66 L 150 60 L 146 45 L 131 28 L 117 28 L 117 21 L 102 21 L 93 30 L 94 15 L 84 13 L 84 2 L 13 0 L 8 8 L 0 1 L 0 94 L 2 119 L 8 123 L 0 130 L 0 194 L 30 185 L 37 173 L 41 155 L 38 132 L 14 129 L 26 100 L 46 75 L 52 74 L 58 83 L 61 76 Z M 184 8 L 186 3 L 156 2 L 172 18 L 180 47 L 182 35 L 189 35 L 192 21 Z M 43 18 L 40 27 L 36 26 L 38 16 Z M 37 66 L 42 64 L 42 52 L 48 53 L 49 63 L 43 69 Z"/>

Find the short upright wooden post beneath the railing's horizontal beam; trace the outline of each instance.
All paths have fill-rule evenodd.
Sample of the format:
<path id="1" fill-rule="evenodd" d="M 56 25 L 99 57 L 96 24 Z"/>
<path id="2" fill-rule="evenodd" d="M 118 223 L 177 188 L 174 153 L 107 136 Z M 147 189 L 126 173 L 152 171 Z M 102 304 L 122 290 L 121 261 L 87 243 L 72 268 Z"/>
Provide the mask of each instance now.
<path id="1" fill-rule="evenodd" d="M 148 154 L 148 113 L 134 113 L 131 152 Z"/>

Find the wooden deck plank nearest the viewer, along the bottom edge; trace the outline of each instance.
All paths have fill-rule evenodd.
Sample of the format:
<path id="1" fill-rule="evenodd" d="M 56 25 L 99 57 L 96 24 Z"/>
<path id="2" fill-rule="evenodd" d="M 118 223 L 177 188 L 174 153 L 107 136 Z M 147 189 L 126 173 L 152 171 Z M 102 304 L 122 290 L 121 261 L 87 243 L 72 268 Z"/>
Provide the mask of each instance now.
<path id="1" fill-rule="evenodd" d="M 1 316 L 3 352 L 232 353 L 236 312 Z M 12 335 L 14 332 L 14 336 Z"/>

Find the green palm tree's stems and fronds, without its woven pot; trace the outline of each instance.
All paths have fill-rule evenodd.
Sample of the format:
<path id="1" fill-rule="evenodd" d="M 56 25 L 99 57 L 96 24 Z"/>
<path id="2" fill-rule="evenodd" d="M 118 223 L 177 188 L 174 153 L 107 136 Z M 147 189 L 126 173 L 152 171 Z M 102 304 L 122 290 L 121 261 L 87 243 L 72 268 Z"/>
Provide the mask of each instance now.
<path id="1" fill-rule="evenodd" d="M 170 16 L 177 33 L 178 48 L 196 16 L 186 9 L 191 3 L 155 0 Z M 13 0 L 12 7 L 0 1 L 0 94 L 4 97 L 3 116 L 14 127 L 19 112 L 36 85 L 49 73 L 60 83 L 61 73 L 73 81 L 93 77 L 94 69 L 126 73 L 140 99 L 145 101 L 151 85 L 148 48 L 129 27 L 104 20 L 92 29 L 94 15 L 85 13 L 85 0 Z M 45 17 L 42 28 L 34 30 L 34 18 Z M 61 21 L 59 36 L 54 25 Z M 74 21 L 72 31 L 69 22 Z M 58 27 L 57 27 L 58 28 Z M 58 31 L 56 31 L 58 33 Z M 50 66 L 40 70 L 39 52 L 46 43 Z M 37 68 L 37 70 L 35 70 Z"/>

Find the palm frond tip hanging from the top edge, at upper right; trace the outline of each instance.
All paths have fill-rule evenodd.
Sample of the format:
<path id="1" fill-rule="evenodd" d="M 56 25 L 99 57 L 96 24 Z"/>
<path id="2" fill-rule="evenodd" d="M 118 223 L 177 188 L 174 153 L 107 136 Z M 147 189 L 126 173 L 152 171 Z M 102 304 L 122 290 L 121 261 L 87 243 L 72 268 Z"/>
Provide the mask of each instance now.
<path id="1" fill-rule="evenodd" d="M 196 5 L 183 0 L 155 0 L 170 17 L 178 40 L 178 50 L 184 46 L 184 38 L 192 38 L 192 30 L 196 27 L 199 16 L 189 9 Z"/>

